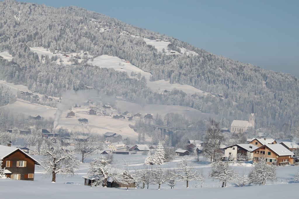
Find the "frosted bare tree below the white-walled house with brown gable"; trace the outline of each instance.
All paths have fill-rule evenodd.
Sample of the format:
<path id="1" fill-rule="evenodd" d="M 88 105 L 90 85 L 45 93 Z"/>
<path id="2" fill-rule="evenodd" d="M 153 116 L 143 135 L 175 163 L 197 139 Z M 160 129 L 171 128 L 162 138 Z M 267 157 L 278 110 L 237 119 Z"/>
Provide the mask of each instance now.
<path id="1" fill-rule="evenodd" d="M 231 182 L 237 176 L 234 169 L 228 166 L 228 162 L 216 161 L 212 163 L 209 177 L 222 182 L 222 187 L 226 187 L 227 182 Z"/>

